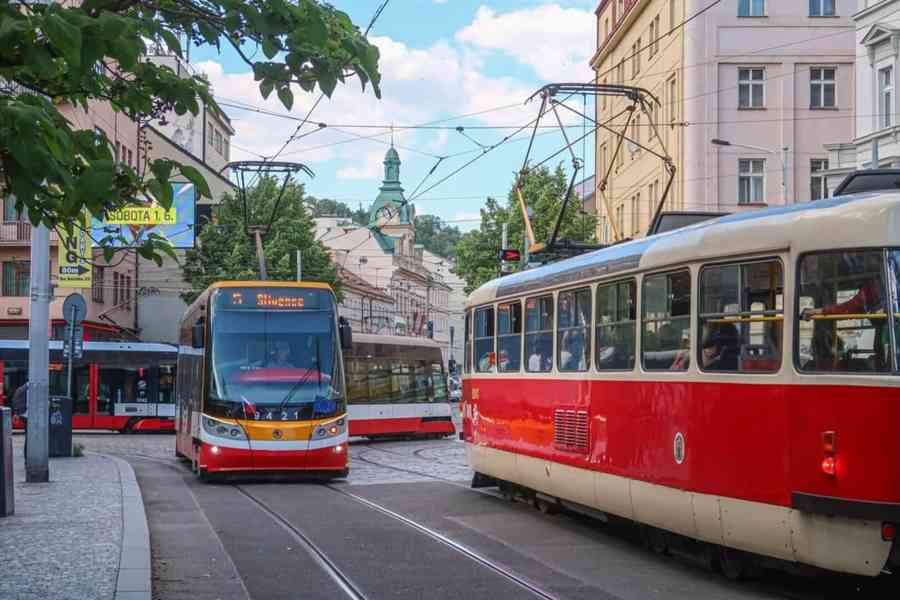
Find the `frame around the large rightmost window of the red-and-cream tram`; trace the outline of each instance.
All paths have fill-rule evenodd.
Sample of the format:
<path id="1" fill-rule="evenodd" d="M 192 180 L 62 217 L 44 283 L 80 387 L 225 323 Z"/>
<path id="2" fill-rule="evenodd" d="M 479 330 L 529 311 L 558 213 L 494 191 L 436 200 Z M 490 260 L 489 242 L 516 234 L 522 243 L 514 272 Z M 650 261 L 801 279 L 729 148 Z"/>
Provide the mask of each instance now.
<path id="1" fill-rule="evenodd" d="M 891 349 L 892 357 L 891 357 L 891 367 L 886 371 L 809 371 L 804 370 L 800 366 L 800 323 L 803 319 L 799 318 L 800 315 L 800 276 L 802 274 L 802 270 L 800 268 L 803 260 L 808 256 L 813 256 L 817 254 L 835 254 L 835 253 L 851 253 L 851 252 L 874 252 L 880 250 L 882 253 L 882 264 L 881 264 L 881 277 L 882 284 L 884 285 L 886 295 L 889 300 L 897 300 L 897 292 L 890 288 L 888 282 L 890 281 L 888 269 L 890 268 L 888 265 L 888 259 L 890 258 L 890 253 L 892 251 L 897 251 L 900 249 L 900 245 L 895 246 L 869 246 L 869 247 L 852 247 L 852 248 L 837 248 L 832 250 L 810 250 L 808 252 L 802 252 L 797 256 L 797 260 L 794 263 L 794 301 L 792 302 L 792 319 L 793 325 L 791 327 L 792 334 L 794 336 L 794 341 L 791 344 L 791 363 L 794 367 L 794 372 L 797 375 L 805 376 L 805 377 L 821 377 L 821 376 L 838 376 L 838 377 L 847 377 L 847 376 L 859 376 L 859 377 L 897 377 L 900 375 L 900 356 L 898 356 L 898 342 L 895 341 L 893 344 L 893 348 Z M 885 313 L 888 315 L 888 327 L 890 330 L 894 330 L 896 328 L 897 317 L 894 315 L 894 311 L 885 309 Z"/>

